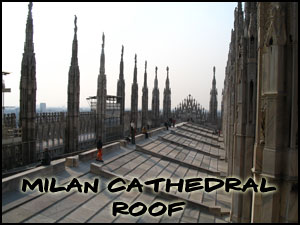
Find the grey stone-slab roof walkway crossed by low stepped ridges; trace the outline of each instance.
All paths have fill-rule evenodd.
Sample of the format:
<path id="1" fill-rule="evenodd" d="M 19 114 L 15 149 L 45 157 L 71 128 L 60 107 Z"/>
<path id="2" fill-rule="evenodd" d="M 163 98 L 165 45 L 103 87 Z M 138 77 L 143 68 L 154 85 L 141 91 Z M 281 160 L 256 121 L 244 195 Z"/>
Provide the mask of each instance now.
<path id="1" fill-rule="evenodd" d="M 108 183 L 115 177 L 127 180 L 139 178 L 142 183 L 154 178 L 170 178 L 172 182 L 176 182 L 180 178 L 205 178 L 226 174 L 227 164 L 222 159 L 224 150 L 201 142 L 201 134 L 210 135 L 209 130 L 205 128 L 201 130 L 191 124 L 179 127 L 139 141 L 136 146 L 129 144 L 104 154 L 104 163 L 95 160 L 79 161 L 78 167 L 66 167 L 65 171 L 54 175 L 59 184 L 67 184 L 73 177 L 77 177 L 81 183 L 83 181 L 93 183 L 94 178 L 99 178 L 100 190 L 96 194 L 83 194 L 77 191 L 59 194 L 38 191 L 28 191 L 24 194 L 20 191 L 11 191 L 2 194 L 2 221 L 228 222 L 231 197 L 219 190 L 212 193 L 203 191 L 187 193 L 178 192 L 177 188 L 171 187 L 168 193 L 164 185 L 160 185 L 158 193 L 153 191 L 140 193 L 136 190 L 111 193 L 107 190 Z M 191 136 L 184 129 L 193 129 L 192 132 L 196 136 Z M 193 139 L 189 139 L 189 136 Z M 218 144 L 215 139 L 205 138 L 208 139 L 206 140 L 208 143 Z M 137 217 L 113 216 L 112 205 L 117 201 L 126 202 L 129 206 L 138 201 L 147 206 L 157 201 L 165 202 L 166 205 L 183 201 L 186 205 L 184 210 L 174 213 L 171 217 L 167 214 L 153 217 L 148 212 Z"/>

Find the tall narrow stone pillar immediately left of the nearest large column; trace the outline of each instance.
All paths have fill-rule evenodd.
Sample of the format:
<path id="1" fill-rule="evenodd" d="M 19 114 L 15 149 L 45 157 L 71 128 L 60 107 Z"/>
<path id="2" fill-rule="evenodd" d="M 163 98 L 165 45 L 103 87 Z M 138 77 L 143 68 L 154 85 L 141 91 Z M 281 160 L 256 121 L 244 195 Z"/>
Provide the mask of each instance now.
<path id="1" fill-rule="evenodd" d="M 238 177 L 244 182 L 249 175 L 245 164 L 251 158 L 245 158 L 245 134 L 247 121 L 247 66 L 246 66 L 246 38 L 244 36 L 244 25 L 242 5 L 238 3 L 236 32 L 236 119 L 235 119 L 235 145 L 233 149 L 233 176 Z M 246 25 L 245 25 L 246 26 Z M 248 173 L 248 177 L 245 174 Z M 249 222 L 250 221 L 250 204 L 245 202 L 247 194 L 234 192 L 232 194 L 232 221 Z M 249 199 L 249 198 L 248 198 Z M 251 199 L 251 198 L 250 198 Z M 245 221 L 242 220 L 242 217 Z"/>

